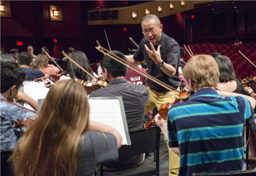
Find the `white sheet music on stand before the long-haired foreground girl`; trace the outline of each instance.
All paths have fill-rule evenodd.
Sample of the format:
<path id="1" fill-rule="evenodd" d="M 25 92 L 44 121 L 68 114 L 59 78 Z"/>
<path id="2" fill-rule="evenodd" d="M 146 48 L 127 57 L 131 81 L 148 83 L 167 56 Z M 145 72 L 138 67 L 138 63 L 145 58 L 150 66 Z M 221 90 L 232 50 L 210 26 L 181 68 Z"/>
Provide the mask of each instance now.
<path id="1" fill-rule="evenodd" d="M 127 145 L 119 100 L 90 100 L 90 120 L 115 128 L 122 136 L 122 145 Z M 100 111 L 99 111 L 100 106 Z"/>

